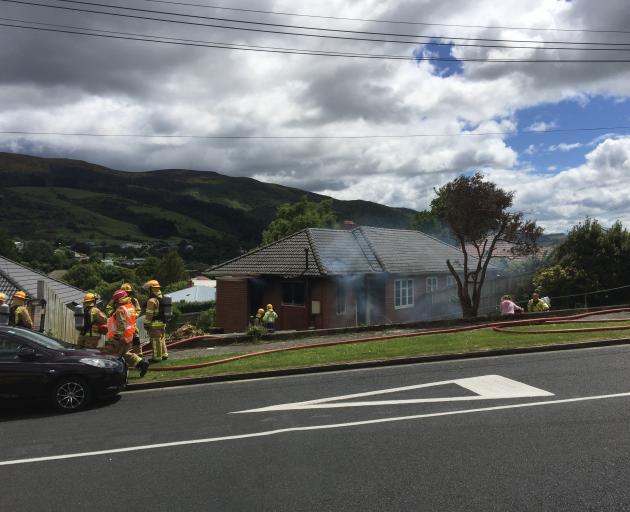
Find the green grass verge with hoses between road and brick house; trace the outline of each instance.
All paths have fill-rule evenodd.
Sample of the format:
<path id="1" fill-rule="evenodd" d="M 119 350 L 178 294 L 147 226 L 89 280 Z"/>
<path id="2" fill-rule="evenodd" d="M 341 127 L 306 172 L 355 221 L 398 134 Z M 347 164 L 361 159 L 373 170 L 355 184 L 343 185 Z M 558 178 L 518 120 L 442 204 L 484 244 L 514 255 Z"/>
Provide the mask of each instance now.
<path id="1" fill-rule="evenodd" d="M 544 332 L 545 330 L 554 328 L 577 329 L 583 327 L 598 326 L 608 327 L 611 325 L 624 325 L 630 327 L 630 322 L 616 322 L 615 324 L 607 322 L 597 322 L 589 324 L 549 324 L 536 327 L 522 327 L 520 329 L 539 329 Z M 619 339 L 625 337 L 630 337 L 630 329 L 622 331 L 566 334 L 558 333 L 540 335 L 498 333 L 490 329 L 482 329 L 478 331 L 468 331 L 461 333 L 438 334 L 412 338 L 396 338 L 383 341 L 338 345 L 334 347 L 309 348 L 292 352 L 280 352 L 194 370 L 166 372 L 151 371 L 144 377 L 143 381 L 249 373 L 264 370 L 301 368 L 306 366 L 318 366 L 352 361 L 370 361 L 419 355 L 475 352 L 501 348 L 531 347 L 536 345 L 552 345 L 589 340 Z M 261 347 L 261 350 L 264 350 L 264 347 Z M 164 361 L 163 363 L 155 364 L 153 368 L 196 364 L 206 361 L 225 359 L 233 355 L 238 354 L 221 354 L 208 357 L 169 360 Z M 132 372 L 130 375 L 130 382 L 136 382 L 137 378 L 137 373 Z"/>

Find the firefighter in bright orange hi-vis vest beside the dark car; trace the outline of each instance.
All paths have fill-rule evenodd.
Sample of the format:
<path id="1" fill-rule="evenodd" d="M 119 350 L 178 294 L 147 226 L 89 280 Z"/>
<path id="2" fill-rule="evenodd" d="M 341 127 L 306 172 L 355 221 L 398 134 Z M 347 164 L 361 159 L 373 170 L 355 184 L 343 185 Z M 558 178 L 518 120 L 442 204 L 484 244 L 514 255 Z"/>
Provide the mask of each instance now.
<path id="1" fill-rule="evenodd" d="M 127 366 L 140 370 L 144 377 L 149 369 L 149 361 L 129 351 L 136 332 L 136 308 L 125 290 L 116 290 L 112 295 L 114 314 L 107 320 L 107 343 L 104 352 L 122 357 Z"/>

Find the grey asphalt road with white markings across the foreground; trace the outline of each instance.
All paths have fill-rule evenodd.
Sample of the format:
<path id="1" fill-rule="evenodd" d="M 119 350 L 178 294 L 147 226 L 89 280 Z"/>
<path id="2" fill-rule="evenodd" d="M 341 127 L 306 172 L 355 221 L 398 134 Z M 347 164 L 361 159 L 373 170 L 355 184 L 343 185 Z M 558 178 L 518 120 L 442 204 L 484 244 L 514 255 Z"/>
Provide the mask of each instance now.
<path id="1" fill-rule="evenodd" d="M 629 510 L 629 370 L 607 347 L 10 407 L 0 510 Z"/>

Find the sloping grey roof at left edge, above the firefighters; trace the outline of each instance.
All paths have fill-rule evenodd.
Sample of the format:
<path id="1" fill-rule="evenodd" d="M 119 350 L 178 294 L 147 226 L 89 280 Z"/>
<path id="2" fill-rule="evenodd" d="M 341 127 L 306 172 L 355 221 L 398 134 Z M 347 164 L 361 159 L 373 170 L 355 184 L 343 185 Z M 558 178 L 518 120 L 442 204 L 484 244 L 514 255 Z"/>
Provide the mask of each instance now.
<path id="1" fill-rule="evenodd" d="M 19 289 L 24 290 L 29 297 L 37 296 L 37 281 L 43 280 L 46 285 L 55 291 L 57 297 L 64 303 L 81 303 L 84 291 L 69 284 L 62 283 L 48 277 L 46 274 L 20 265 L 15 261 L 0 256 L 0 291 L 10 298 Z M 4 289 L 7 291 L 4 291 Z"/>

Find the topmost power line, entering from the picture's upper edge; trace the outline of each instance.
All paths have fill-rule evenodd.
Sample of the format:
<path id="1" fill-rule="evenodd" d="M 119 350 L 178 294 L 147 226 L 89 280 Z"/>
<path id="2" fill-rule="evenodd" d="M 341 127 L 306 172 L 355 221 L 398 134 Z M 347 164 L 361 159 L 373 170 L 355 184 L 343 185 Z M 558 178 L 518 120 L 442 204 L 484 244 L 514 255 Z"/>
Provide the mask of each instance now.
<path id="1" fill-rule="evenodd" d="M 540 28 L 540 27 L 514 27 L 505 25 L 463 25 L 458 23 L 430 23 L 427 21 L 402 21 L 402 20 L 389 20 L 389 19 L 375 19 L 375 18 L 350 18 L 343 16 L 323 16 L 317 14 L 300 14 L 295 12 L 282 12 L 282 11 L 263 11 L 260 9 L 244 9 L 237 7 L 224 7 L 220 5 L 207 5 L 207 4 L 194 4 L 188 2 L 174 2 L 172 0 L 144 0 L 145 2 L 153 2 L 157 4 L 170 4 L 181 5 L 186 7 L 202 7 L 206 9 L 217 9 L 222 11 L 234 11 L 234 12 L 248 12 L 256 14 L 273 14 L 278 16 L 292 16 L 299 18 L 317 18 L 324 20 L 341 20 L 341 21 L 361 21 L 369 23 L 391 23 L 394 25 L 421 25 L 427 27 L 452 27 L 452 28 L 484 28 L 484 29 L 505 29 L 505 30 L 531 30 L 531 31 L 544 31 L 544 32 L 592 32 L 600 34 L 630 34 L 628 30 L 614 30 L 614 29 L 588 29 L 588 28 Z"/>

